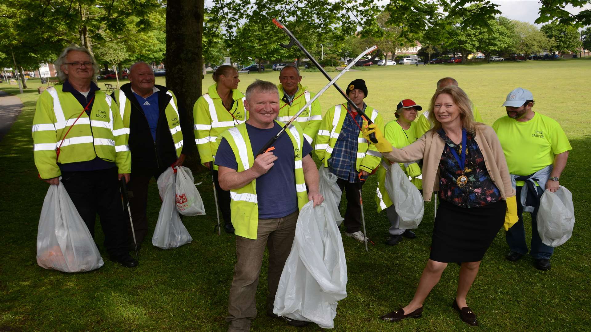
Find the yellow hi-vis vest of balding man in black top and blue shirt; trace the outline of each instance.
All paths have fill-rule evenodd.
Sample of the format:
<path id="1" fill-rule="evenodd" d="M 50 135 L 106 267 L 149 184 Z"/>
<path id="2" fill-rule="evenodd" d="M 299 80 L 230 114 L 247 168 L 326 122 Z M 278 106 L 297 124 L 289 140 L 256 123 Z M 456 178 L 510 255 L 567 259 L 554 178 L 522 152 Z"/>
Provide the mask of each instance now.
<path id="1" fill-rule="evenodd" d="M 171 90 L 168 90 L 166 94 L 168 96 L 171 96 L 171 99 L 170 102 L 168 102 L 168 105 L 166 105 L 166 108 L 164 109 L 164 114 L 166 115 L 170 135 L 173 136 L 174 149 L 176 149 L 178 158 L 181 155 L 181 151 L 183 151 L 183 132 L 181 131 L 181 123 L 178 116 L 177 97 Z M 119 90 L 119 93 L 115 93 L 115 96 L 116 99 L 118 99 L 116 101 L 119 105 L 119 115 L 121 115 L 121 119 L 123 120 L 125 136 L 129 139 L 129 118 L 131 117 L 131 102 L 127 99 L 127 96 L 125 96 L 125 92 L 123 92 L 123 90 Z"/>

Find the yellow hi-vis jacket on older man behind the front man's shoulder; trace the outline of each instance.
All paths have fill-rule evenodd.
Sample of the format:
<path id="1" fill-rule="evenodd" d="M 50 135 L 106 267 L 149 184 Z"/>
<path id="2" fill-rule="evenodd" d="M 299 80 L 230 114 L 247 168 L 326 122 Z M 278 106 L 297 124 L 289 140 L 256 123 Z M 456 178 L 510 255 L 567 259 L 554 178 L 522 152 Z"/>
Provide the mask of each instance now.
<path id="1" fill-rule="evenodd" d="M 288 105 L 283 101 L 285 94 L 283 86 L 279 84 L 277 89 L 279 90 L 279 114 L 277 115 L 277 121 L 281 122 L 290 121 L 291 117 L 296 115 L 298 110 L 303 108 L 316 95 L 315 93 L 309 92 L 307 90 L 308 87 L 301 86 L 298 83 L 296 95 L 294 95 L 291 105 Z M 304 112 L 301 112 L 296 121 L 300 123 L 301 128 L 304 130 L 304 138 L 311 145 L 314 138 L 316 138 L 316 134 L 320 128 L 320 122 L 322 121 L 322 108 L 320 108 L 318 99 L 314 100 Z"/>

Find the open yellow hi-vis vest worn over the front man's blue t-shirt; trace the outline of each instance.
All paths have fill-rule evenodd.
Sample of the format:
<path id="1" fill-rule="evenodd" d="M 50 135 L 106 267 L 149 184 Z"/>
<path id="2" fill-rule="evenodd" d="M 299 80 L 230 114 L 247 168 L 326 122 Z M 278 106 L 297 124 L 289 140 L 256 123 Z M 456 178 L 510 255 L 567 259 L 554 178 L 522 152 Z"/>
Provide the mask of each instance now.
<path id="1" fill-rule="evenodd" d="M 280 126 L 285 123 L 278 122 Z M 294 146 L 294 163 L 296 173 L 296 192 L 298 209 L 301 210 L 308 203 L 308 193 L 304 182 L 304 170 L 302 167 L 302 151 L 304 147 L 304 136 L 298 123 L 293 123 L 287 131 Z M 222 132 L 222 137 L 228 140 L 232 151 L 238 162 L 237 172 L 248 170 L 254 164 L 254 153 L 252 152 L 251 140 L 246 131 L 246 125 L 235 126 Z M 289 190 L 289 188 L 285 188 Z M 230 209 L 232 209 L 232 225 L 236 235 L 247 239 L 256 239 L 258 227 L 258 200 L 256 198 L 256 179 L 242 188 L 230 190 Z"/>

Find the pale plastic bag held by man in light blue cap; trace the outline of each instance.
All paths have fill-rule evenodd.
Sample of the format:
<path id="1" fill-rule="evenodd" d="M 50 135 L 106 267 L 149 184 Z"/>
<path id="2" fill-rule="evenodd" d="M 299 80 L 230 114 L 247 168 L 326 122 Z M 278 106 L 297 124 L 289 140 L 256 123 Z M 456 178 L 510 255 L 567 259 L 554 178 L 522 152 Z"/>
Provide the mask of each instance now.
<path id="1" fill-rule="evenodd" d="M 557 247 L 570 239 L 574 227 L 573 195 L 562 185 L 556 193 L 545 190 L 540 197 L 538 233 L 544 245 Z"/>

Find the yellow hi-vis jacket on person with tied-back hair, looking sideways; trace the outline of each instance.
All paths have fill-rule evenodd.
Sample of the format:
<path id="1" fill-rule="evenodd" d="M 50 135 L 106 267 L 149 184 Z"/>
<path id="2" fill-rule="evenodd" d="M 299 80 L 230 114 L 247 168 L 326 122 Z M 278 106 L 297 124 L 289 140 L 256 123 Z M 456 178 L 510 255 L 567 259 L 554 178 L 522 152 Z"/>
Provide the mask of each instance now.
<path id="1" fill-rule="evenodd" d="M 222 132 L 248 119 L 248 114 L 244 109 L 246 98 L 242 92 L 232 90 L 234 105 L 232 110 L 227 110 L 217 94 L 216 87 L 217 83 L 210 86 L 208 92 L 199 97 L 193 106 L 193 128 L 199 158 L 201 164 L 212 161 L 214 170 L 217 170 L 217 165 L 214 165 L 213 161 L 216 157 L 217 147 L 222 141 Z"/>

